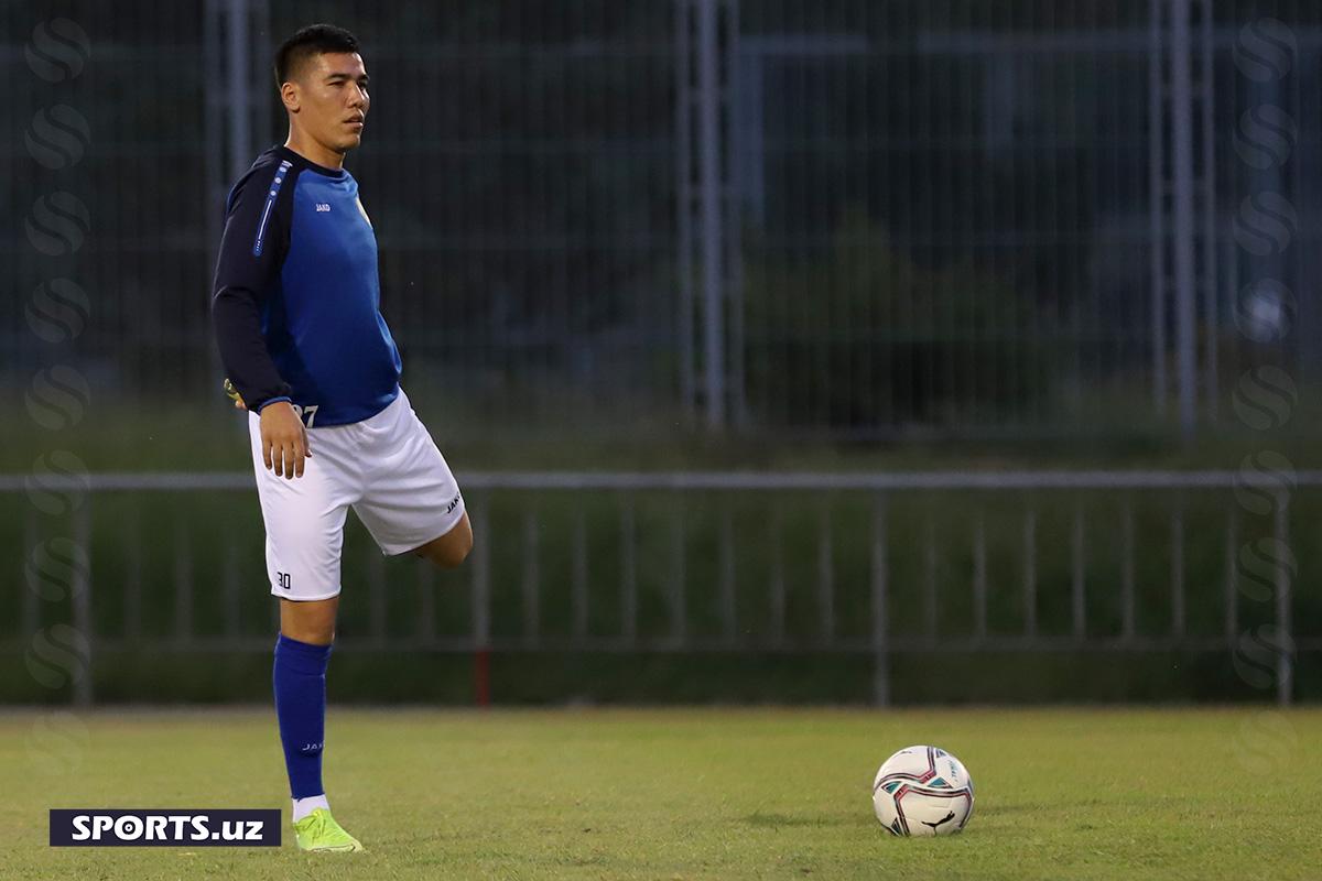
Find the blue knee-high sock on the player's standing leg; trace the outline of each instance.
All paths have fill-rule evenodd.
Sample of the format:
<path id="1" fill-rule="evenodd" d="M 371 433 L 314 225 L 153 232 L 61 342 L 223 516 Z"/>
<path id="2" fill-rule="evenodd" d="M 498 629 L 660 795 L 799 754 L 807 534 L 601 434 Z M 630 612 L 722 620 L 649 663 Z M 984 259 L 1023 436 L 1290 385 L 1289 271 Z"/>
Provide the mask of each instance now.
<path id="1" fill-rule="evenodd" d="M 327 664 L 330 646 L 312 646 L 284 634 L 275 642 L 275 717 L 280 722 L 284 767 L 293 798 L 323 795 L 321 749 L 327 726 Z"/>

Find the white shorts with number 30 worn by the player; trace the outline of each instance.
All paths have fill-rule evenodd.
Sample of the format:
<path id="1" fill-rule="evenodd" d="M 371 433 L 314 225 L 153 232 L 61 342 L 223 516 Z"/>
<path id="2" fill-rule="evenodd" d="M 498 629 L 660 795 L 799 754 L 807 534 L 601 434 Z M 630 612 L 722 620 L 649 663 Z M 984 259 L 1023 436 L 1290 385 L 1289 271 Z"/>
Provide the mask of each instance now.
<path id="1" fill-rule="evenodd" d="M 340 593 L 344 520 L 352 506 L 382 553 L 412 551 L 464 515 L 455 476 L 403 390 L 379 413 L 308 429 L 303 477 L 276 477 L 262 461 L 262 420 L 249 413 L 253 469 L 266 522 L 271 593 L 327 600 Z"/>

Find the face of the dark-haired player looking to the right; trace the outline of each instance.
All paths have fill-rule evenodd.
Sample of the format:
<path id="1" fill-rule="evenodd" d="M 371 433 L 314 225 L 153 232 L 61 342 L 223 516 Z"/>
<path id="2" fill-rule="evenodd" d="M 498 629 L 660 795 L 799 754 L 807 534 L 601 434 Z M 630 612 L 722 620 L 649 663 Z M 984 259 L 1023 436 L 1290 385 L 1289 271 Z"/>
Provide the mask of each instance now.
<path id="1" fill-rule="evenodd" d="M 356 52 L 324 53 L 308 59 L 282 88 L 284 106 L 323 147 L 346 153 L 362 141 L 368 119 L 368 71 Z"/>

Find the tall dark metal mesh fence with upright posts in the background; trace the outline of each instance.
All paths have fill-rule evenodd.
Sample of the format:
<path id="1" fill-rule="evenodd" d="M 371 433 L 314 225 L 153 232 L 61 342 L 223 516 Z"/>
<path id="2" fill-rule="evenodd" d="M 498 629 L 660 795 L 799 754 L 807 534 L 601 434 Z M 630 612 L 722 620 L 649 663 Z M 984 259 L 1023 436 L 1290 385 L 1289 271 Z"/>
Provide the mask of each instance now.
<path id="1" fill-rule="evenodd" d="M 1225 421 L 1240 369 L 1322 361 L 1315 4 L 67 15 L 86 71 L 52 82 L 32 75 L 57 52 L 32 61 L 41 22 L 0 9 L 0 63 L 32 86 L 8 107 L 25 135 L 3 152 L 0 247 L 37 308 L 61 279 L 85 291 L 97 402 L 213 394 L 223 193 L 283 136 L 266 59 L 311 20 L 357 30 L 373 71 L 350 165 L 410 390 L 475 436 L 1191 429 Z M 37 248 L 57 215 L 81 230 L 67 254 Z M 8 376 L 67 357 L 22 309 L 0 321 Z"/>

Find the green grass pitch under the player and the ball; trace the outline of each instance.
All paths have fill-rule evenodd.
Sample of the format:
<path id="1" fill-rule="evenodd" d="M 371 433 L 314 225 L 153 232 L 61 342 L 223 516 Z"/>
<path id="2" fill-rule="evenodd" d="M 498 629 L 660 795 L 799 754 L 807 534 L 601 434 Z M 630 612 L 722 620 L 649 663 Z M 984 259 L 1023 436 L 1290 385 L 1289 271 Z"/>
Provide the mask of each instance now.
<path id="1" fill-rule="evenodd" d="M 82 728 L 86 738 L 82 738 Z M 935 742 L 964 835 L 892 839 L 871 777 Z M 0 715 L 0 877 L 1322 877 L 1322 711 L 332 708 L 327 785 L 364 855 L 52 849 L 49 807 L 288 807 L 262 709 Z M 75 766 L 79 766 L 74 770 Z"/>

